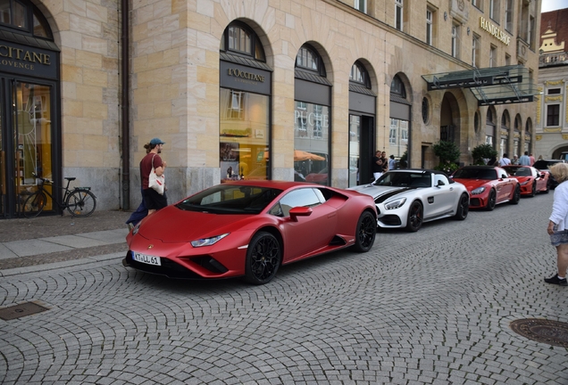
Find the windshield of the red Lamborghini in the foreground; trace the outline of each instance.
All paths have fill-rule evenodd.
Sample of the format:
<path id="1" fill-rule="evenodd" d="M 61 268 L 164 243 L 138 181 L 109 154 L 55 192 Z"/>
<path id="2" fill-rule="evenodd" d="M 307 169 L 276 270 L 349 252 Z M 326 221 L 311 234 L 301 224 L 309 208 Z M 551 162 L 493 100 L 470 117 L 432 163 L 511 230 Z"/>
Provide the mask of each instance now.
<path id="1" fill-rule="evenodd" d="M 176 207 L 213 214 L 258 214 L 281 192 L 267 187 L 219 184 L 181 201 Z"/>

